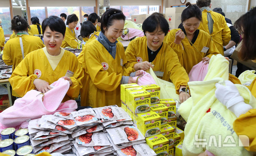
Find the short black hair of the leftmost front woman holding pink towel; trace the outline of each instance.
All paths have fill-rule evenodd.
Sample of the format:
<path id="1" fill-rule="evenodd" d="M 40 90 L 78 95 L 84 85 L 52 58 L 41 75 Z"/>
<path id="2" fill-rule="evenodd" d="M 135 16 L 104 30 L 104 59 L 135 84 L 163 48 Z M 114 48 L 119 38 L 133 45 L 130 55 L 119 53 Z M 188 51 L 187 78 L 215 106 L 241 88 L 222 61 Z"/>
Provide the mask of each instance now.
<path id="1" fill-rule="evenodd" d="M 46 27 L 49 27 L 52 31 L 62 33 L 63 37 L 66 32 L 66 25 L 65 23 L 61 20 L 61 18 L 57 16 L 50 16 L 48 18 L 45 18 L 42 22 L 42 31 L 43 34 L 45 33 Z"/>

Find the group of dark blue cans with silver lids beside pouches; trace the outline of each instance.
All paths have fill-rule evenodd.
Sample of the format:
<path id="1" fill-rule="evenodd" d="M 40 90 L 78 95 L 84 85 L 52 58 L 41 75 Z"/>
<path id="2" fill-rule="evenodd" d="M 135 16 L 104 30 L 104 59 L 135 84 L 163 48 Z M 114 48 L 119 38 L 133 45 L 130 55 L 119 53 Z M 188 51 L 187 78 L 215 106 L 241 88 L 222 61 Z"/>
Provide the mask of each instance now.
<path id="1" fill-rule="evenodd" d="M 33 147 L 30 146 L 28 129 L 19 129 L 15 132 L 15 128 L 10 127 L 2 130 L 0 152 L 10 156 L 34 155 Z"/>

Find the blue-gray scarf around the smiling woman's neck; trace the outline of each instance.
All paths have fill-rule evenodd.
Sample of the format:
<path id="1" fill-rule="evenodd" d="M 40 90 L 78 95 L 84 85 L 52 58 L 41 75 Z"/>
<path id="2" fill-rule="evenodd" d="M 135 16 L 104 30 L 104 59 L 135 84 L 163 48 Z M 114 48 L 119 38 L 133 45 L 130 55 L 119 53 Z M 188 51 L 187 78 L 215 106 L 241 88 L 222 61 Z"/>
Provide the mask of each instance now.
<path id="1" fill-rule="evenodd" d="M 102 32 L 100 32 L 99 37 L 96 40 L 98 40 L 106 48 L 106 50 L 108 50 L 113 59 L 115 59 L 117 40 L 114 43 L 111 43 Z"/>

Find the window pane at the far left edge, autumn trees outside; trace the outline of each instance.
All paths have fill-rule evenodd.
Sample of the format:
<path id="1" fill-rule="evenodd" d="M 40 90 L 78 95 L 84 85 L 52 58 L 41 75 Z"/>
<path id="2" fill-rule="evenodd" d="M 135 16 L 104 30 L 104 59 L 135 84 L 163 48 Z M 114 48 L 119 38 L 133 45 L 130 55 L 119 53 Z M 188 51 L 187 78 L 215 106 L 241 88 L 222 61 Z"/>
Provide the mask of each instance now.
<path id="1" fill-rule="evenodd" d="M 11 14 L 9 7 L 0 7 L 0 18 L 2 20 L 2 29 L 4 34 L 12 34 L 11 27 Z"/>

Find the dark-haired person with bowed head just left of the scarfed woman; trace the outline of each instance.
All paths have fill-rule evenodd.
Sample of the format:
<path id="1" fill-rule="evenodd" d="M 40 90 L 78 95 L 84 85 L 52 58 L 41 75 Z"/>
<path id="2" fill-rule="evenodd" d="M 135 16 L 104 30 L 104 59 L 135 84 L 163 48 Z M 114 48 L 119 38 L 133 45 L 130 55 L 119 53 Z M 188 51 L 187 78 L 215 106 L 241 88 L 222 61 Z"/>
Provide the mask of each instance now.
<path id="1" fill-rule="evenodd" d="M 93 34 L 94 32 L 95 34 Z M 81 37 L 83 38 L 83 41 L 88 41 L 90 37 L 92 37 L 92 39 L 98 38 L 99 33 L 100 32 L 97 32 L 97 29 L 95 28 L 92 22 L 90 21 L 83 22 L 80 30 L 80 34 L 81 34 Z"/>

